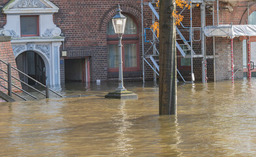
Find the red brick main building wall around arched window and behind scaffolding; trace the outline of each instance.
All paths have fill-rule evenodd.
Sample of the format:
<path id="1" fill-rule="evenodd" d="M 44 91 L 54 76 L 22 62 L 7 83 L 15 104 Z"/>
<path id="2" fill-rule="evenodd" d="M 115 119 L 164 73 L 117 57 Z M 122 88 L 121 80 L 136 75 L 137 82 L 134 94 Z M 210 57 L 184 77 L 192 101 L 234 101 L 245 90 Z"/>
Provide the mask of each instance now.
<path id="1" fill-rule="evenodd" d="M 9 0 L 0 1 L 0 6 L 4 6 Z M 141 52 L 141 1 L 109 1 L 109 0 L 51 0 L 57 7 L 60 8 L 59 12 L 54 14 L 55 24 L 62 29 L 65 35 L 65 50 L 69 57 L 83 58 L 90 56 L 90 76 L 91 80 L 96 79 L 107 80 L 107 35 L 106 28 L 107 22 L 115 14 L 116 6 L 119 3 L 121 9 L 130 14 L 137 22 L 137 29 L 139 31 L 139 44 L 140 54 Z M 219 24 L 245 24 L 247 19 L 246 6 L 247 2 L 238 1 L 236 6 L 233 7 L 233 11 L 229 12 L 224 9 L 225 5 L 229 5 L 223 1 L 219 1 Z M 256 10 L 256 3 L 250 2 L 249 14 Z M 149 7 L 144 6 L 144 27 L 150 27 L 152 24 L 152 12 Z M 182 13 L 185 18 L 183 20 L 184 26 L 190 27 L 189 10 L 185 10 Z M 212 25 L 212 15 L 207 12 L 206 26 Z M 6 23 L 6 17 L 4 14 L 0 15 L 0 28 Z M 200 27 L 200 7 L 192 9 L 192 26 Z M 215 2 L 215 25 L 217 24 L 217 9 Z M 195 33 L 195 38 L 198 38 L 199 33 Z M 229 40 L 223 42 L 229 43 Z M 239 42 L 239 41 L 238 41 Z M 206 38 L 207 54 L 213 54 L 213 41 L 212 38 Z M 240 45 L 240 44 L 238 44 Z M 225 46 L 225 44 L 218 43 L 215 45 Z M 145 48 L 149 47 L 149 44 L 145 44 Z M 223 47 L 225 48 L 225 47 Z M 193 49 L 196 54 L 201 54 L 201 43 L 193 42 Z M 64 60 L 64 58 L 61 58 Z M 228 58 L 219 58 L 218 60 L 228 60 Z M 208 78 L 213 80 L 213 60 L 208 59 Z M 64 63 L 64 61 L 62 61 Z M 202 79 L 202 58 L 194 58 L 194 74 L 196 80 Z M 140 59 L 140 72 L 142 72 L 142 60 Z M 146 79 L 152 78 L 153 71 L 149 66 L 146 66 Z M 228 67 L 225 67 L 228 69 Z M 61 65 L 61 77 L 64 80 L 64 64 Z M 139 76 L 139 75 L 138 75 Z"/>

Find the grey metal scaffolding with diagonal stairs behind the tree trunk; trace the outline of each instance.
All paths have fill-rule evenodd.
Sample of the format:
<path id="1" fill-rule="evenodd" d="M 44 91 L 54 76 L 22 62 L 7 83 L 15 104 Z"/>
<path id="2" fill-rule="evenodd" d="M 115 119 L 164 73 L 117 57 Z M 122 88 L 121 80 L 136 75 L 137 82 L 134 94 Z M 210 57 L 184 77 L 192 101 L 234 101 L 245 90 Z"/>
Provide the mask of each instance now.
<path id="1" fill-rule="evenodd" d="M 201 12 L 201 26 L 200 27 L 192 27 L 192 7 L 190 9 L 190 26 L 186 27 L 183 26 L 182 23 L 180 23 L 181 29 L 179 29 L 176 26 L 176 48 L 181 53 L 181 58 L 191 58 L 191 80 L 185 80 L 184 77 L 179 72 L 179 69 L 177 69 L 177 73 L 183 80 L 183 82 L 193 82 L 194 81 L 194 73 L 193 73 L 193 58 L 202 58 L 202 82 L 207 82 L 207 61 L 208 58 L 213 58 L 213 73 L 214 73 L 214 80 L 215 80 L 215 37 L 213 37 L 213 55 L 212 56 L 206 56 L 206 36 L 204 35 L 204 27 L 206 26 L 206 4 L 212 5 L 213 7 L 213 26 L 214 26 L 214 5 L 213 2 L 215 0 L 191 0 L 191 6 L 196 5 L 197 3 L 200 3 L 200 12 Z M 155 32 L 151 28 L 144 28 L 143 26 L 143 7 L 149 7 L 152 12 L 152 22 L 155 23 L 156 19 L 159 20 L 158 12 L 156 11 L 155 7 L 153 5 L 155 4 L 155 0 L 152 0 L 152 2 L 149 3 L 143 3 L 141 1 L 141 26 L 142 26 L 142 51 L 143 51 L 143 82 L 145 82 L 145 65 L 149 65 L 151 69 L 154 71 L 154 82 L 156 83 L 156 75 L 159 75 L 159 65 L 158 65 L 158 57 L 159 52 L 156 48 L 156 44 L 158 44 L 159 40 L 155 34 Z M 184 9 L 182 9 L 179 14 L 181 14 Z M 219 21 L 219 20 L 217 20 Z M 148 31 L 150 33 L 148 33 Z M 189 32 L 189 39 L 185 39 L 183 36 L 183 33 L 181 31 L 187 31 Z M 194 39 L 194 31 L 199 31 L 200 39 Z M 151 39 L 147 37 L 147 34 L 152 34 Z M 201 42 L 202 50 L 201 54 L 195 54 L 194 50 L 192 48 L 193 41 Z M 151 46 L 149 48 L 145 48 L 145 43 L 150 43 Z M 189 53 L 187 53 L 189 52 Z"/>

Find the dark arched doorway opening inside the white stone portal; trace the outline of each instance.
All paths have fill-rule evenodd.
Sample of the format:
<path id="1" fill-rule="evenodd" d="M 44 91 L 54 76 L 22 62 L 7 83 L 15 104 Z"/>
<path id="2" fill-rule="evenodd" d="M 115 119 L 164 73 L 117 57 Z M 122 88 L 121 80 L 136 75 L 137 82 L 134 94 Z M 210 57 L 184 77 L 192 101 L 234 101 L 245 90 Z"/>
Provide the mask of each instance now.
<path id="1" fill-rule="evenodd" d="M 26 51 L 16 57 L 16 65 L 18 69 L 29 77 L 46 84 L 46 67 L 43 58 L 39 54 L 33 51 Z M 27 84 L 34 85 L 36 84 L 33 80 L 28 79 L 24 75 L 20 74 L 20 79 L 26 82 Z"/>

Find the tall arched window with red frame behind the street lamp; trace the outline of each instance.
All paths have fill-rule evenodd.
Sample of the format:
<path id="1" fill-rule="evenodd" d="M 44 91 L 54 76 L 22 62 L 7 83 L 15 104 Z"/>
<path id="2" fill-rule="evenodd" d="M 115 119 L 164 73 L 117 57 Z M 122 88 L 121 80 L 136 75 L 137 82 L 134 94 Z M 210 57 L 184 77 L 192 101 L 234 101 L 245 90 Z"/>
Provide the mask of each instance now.
<path id="1" fill-rule="evenodd" d="M 137 25 L 130 16 L 126 16 L 126 26 L 122 35 L 122 62 L 124 71 L 139 70 L 139 37 Z M 112 21 L 107 27 L 108 70 L 119 71 L 119 43 Z"/>

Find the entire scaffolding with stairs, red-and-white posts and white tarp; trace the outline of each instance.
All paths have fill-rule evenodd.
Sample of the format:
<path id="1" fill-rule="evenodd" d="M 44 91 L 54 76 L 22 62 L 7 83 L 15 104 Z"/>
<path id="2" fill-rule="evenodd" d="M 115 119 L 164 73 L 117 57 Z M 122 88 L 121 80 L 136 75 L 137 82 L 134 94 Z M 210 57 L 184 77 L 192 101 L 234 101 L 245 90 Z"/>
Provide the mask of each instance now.
<path id="1" fill-rule="evenodd" d="M 232 66 L 232 75 L 230 78 L 232 78 L 232 82 L 234 83 L 234 74 L 241 69 L 238 69 L 234 73 L 234 58 L 233 58 L 233 38 L 238 36 L 246 36 L 247 38 L 247 77 L 248 79 L 251 79 L 251 52 L 250 52 L 250 43 L 249 43 L 249 37 L 250 36 L 256 36 L 256 26 L 252 25 L 244 25 L 244 26 L 223 26 L 219 25 L 219 0 L 190 0 L 191 3 L 191 9 L 190 9 L 190 26 L 186 27 L 183 26 L 182 23 L 181 29 L 179 29 L 176 26 L 176 48 L 181 53 L 182 58 L 191 58 L 191 80 L 185 80 L 181 73 L 179 72 L 179 69 L 177 69 L 177 73 L 180 75 L 183 82 L 193 82 L 194 81 L 194 73 L 193 73 L 193 58 L 201 58 L 202 61 L 202 82 L 206 83 L 208 80 L 207 77 L 207 59 L 213 59 L 213 79 L 216 80 L 215 75 L 215 36 L 222 36 L 222 37 L 230 37 L 231 39 L 231 66 Z M 216 3 L 215 3 L 216 2 Z M 200 4 L 200 18 L 201 18 L 201 24 L 200 27 L 192 27 L 192 10 L 193 5 Z M 217 5 L 217 26 L 215 25 L 215 9 L 214 9 L 214 3 Z M 154 82 L 156 83 L 156 76 L 159 75 L 159 65 L 158 65 L 158 58 L 159 58 L 159 52 L 157 50 L 156 44 L 159 43 L 159 40 L 155 34 L 155 32 L 151 28 L 144 28 L 143 27 L 143 7 L 149 7 L 152 12 L 152 22 L 155 23 L 156 19 L 159 20 L 158 12 L 156 11 L 155 7 L 153 5 L 155 4 L 155 0 L 152 0 L 148 3 L 143 3 L 143 0 L 141 0 L 141 26 L 142 26 L 142 50 L 143 50 L 143 82 L 145 82 L 145 63 L 149 65 L 154 71 Z M 206 9 L 209 9 L 211 7 L 211 15 L 212 15 L 212 24 L 213 26 L 206 26 Z M 182 9 L 179 14 L 181 14 L 184 9 Z M 247 1 L 247 21 L 249 22 L 249 1 Z M 221 31 L 215 32 L 215 30 L 220 29 Z M 227 33 L 226 31 L 223 31 L 223 29 L 227 29 L 226 31 L 229 31 Z M 149 31 L 150 33 L 147 33 Z M 183 33 L 181 31 L 187 31 L 189 32 L 189 39 L 185 39 L 183 36 Z M 199 31 L 199 39 L 194 39 L 194 32 Z M 208 33 L 207 33 L 208 32 Z M 224 35 L 223 35 L 224 32 Z M 209 33 L 212 35 L 209 35 Z M 219 34 L 218 34 L 219 33 Z M 148 39 L 147 34 L 152 34 L 152 38 Z M 208 34 L 208 35 L 207 35 Z M 213 55 L 206 55 L 206 35 L 208 37 L 213 37 Z M 193 42 L 200 42 L 201 43 L 201 53 L 195 54 L 193 50 Z M 145 43 L 150 43 L 151 46 L 148 48 L 145 48 Z M 151 50 L 153 48 L 153 50 Z M 190 52 L 190 55 L 185 52 Z"/>

